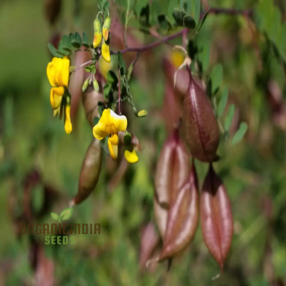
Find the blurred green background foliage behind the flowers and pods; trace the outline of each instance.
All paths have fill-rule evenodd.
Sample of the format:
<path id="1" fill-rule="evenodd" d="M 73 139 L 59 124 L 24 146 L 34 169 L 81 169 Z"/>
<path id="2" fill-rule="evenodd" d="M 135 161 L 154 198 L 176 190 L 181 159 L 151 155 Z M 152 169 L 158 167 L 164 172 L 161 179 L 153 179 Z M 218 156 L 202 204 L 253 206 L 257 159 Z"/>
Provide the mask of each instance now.
<path id="1" fill-rule="evenodd" d="M 71 135 L 65 134 L 62 121 L 53 118 L 45 70 L 51 59 L 47 42 L 55 32 L 86 31 L 92 38 L 97 3 L 62 1 L 59 20 L 51 27 L 44 13 L 47 2 L 0 2 L 0 285 L 284 285 L 285 69 L 262 34 L 255 33 L 253 40 L 243 16 L 209 15 L 198 40 L 210 48 L 206 74 L 214 64 L 223 65 L 222 86 L 229 88 L 229 101 L 236 105 L 233 130 L 239 121 L 249 125 L 241 143 L 233 146 L 221 141 L 222 159 L 214 164 L 228 190 L 235 221 L 221 277 L 212 281 L 220 269 L 204 246 L 200 226 L 168 274 L 165 263 L 153 271 L 139 271 L 140 233 L 142 226 L 154 221 L 154 166 L 167 134 L 158 112 L 164 100 L 164 46 L 148 54 L 150 72 L 142 74 L 144 80 L 135 78 L 130 84 L 136 106 L 149 113 L 142 119 L 132 117 L 132 131 L 142 147 L 139 162 L 129 166 L 110 191 L 108 183 L 116 167 L 109 168 L 110 160 L 104 155 L 95 191 L 74 208 L 74 222 L 100 223 L 101 234 L 78 235 L 75 245 L 59 246 L 44 245 L 41 236 L 15 235 L 25 208 L 27 174 L 38 170 L 43 182 L 55 189 L 49 197 L 55 203 L 35 221 L 51 223 L 49 212 L 59 213 L 76 194 L 82 160 L 92 140 L 81 104 Z M 164 7 L 169 1 L 158 3 Z M 237 9 L 255 8 L 256 3 L 208 1 L 211 7 Z M 275 2 L 282 19 L 285 4 Z M 146 36 L 144 41 L 154 38 Z M 208 165 L 196 161 L 196 167 L 201 186 Z M 46 199 L 43 184 L 35 186 L 30 196 L 32 207 L 41 209 Z M 55 284 L 49 284 L 53 280 Z"/>

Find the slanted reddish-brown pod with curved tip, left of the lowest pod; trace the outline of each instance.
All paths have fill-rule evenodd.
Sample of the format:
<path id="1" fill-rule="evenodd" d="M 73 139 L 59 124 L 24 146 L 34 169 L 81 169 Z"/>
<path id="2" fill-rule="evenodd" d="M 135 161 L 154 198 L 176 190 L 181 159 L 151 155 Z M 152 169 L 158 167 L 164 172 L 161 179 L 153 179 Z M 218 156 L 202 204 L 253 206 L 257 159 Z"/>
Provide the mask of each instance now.
<path id="1" fill-rule="evenodd" d="M 184 249 L 192 240 L 198 225 L 198 184 L 194 164 L 189 180 L 180 189 L 170 206 L 163 249 L 159 260 L 170 258 Z"/>

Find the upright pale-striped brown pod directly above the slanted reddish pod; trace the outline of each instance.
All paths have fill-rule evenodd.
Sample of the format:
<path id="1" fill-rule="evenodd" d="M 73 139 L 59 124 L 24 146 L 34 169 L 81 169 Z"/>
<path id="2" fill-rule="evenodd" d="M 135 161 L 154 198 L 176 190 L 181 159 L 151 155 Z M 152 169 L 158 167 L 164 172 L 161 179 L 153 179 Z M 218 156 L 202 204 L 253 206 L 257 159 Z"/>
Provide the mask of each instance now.
<path id="1" fill-rule="evenodd" d="M 172 204 L 188 175 L 189 156 L 176 129 L 164 143 L 156 166 L 155 196 L 161 206 Z"/>

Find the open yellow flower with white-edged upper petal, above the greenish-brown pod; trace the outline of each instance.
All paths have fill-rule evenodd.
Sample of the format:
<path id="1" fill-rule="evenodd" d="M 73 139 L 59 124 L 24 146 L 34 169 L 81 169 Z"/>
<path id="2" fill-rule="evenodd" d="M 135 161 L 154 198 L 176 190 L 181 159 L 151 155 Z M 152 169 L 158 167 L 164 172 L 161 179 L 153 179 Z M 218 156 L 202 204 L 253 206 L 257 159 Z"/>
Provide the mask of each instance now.
<path id="1" fill-rule="evenodd" d="M 125 132 L 127 128 L 127 118 L 124 115 L 117 115 L 110 108 L 105 109 L 102 112 L 102 116 L 98 123 L 92 129 L 93 136 L 102 140 L 108 135 L 111 135 L 108 138 L 108 149 L 110 156 L 115 160 L 118 156 L 118 132 Z"/>

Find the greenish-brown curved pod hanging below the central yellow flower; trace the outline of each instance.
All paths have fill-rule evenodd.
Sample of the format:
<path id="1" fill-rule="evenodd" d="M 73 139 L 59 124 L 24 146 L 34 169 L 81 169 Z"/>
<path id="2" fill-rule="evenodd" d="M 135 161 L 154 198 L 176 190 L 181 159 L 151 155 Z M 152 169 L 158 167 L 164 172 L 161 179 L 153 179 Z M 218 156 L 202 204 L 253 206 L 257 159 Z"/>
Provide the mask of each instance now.
<path id="1" fill-rule="evenodd" d="M 78 193 L 70 202 L 70 206 L 81 203 L 85 200 L 94 190 L 100 175 L 102 163 L 102 148 L 100 141 L 97 139 L 92 140 L 80 170 L 80 178 L 78 183 Z"/>

